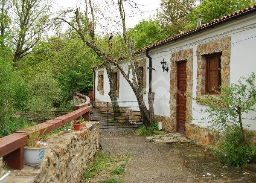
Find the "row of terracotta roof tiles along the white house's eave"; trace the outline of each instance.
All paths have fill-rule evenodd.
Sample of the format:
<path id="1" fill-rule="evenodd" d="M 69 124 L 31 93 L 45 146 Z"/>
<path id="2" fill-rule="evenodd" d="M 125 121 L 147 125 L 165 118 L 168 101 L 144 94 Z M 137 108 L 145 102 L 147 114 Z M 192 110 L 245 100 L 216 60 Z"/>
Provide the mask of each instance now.
<path id="1" fill-rule="evenodd" d="M 230 18 L 230 17 L 234 17 L 234 16 L 236 16 L 236 15 L 240 15 L 240 14 L 242 14 L 242 13 L 244 13 L 244 12 L 247 12 L 247 11 L 250 11 L 250 10 L 253 10 L 253 9 L 256 9 L 256 5 L 247 7 L 247 8 L 245 8 L 245 9 L 240 10 L 240 11 L 236 11 L 236 12 L 234 12 L 234 13 L 231 13 L 231 14 L 227 15 L 227 16 L 224 16 L 224 17 L 221 17 L 221 18 L 219 18 L 219 19 L 212 20 L 211 22 L 205 23 L 205 24 L 203 24 L 203 25 L 201 25 L 201 26 L 199 26 L 199 27 L 195 27 L 194 29 L 189 29 L 189 30 L 187 30 L 186 32 L 182 32 L 182 33 L 177 34 L 177 35 L 174 35 L 174 36 L 172 36 L 172 37 L 170 37 L 170 38 L 166 38 L 166 39 L 164 39 L 164 40 L 162 40 L 162 41 L 159 41 L 159 42 L 153 43 L 153 44 L 151 44 L 151 45 L 148 45 L 148 46 L 146 46 L 146 47 L 144 47 L 144 48 L 141 48 L 141 49 L 136 50 L 136 53 L 144 52 L 146 49 L 149 49 L 149 48 L 152 48 L 152 47 L 154 47 L 154 46 L 157 46 L 157 45 L 166 43 L 166 42 L 168 42 L 168 41 L 170 41 L 170 40 L 173 40 L 173 39 L 178 38 L 178 37 L 180 37 L 180 36 L 186 35 L 186 34 L 188 34 L 188 33 L 190 33 L 190 32 L 194 32 L 194 31 L 196 31 L 196 30 L 202 29 L 202 28 L 207 27 L 207 26 L 210 26 L 210 25 L 212 25 L 212 24 L 214 24 L 214 23 L 221 22 L 221 21 L 226 20 L 226 19 L 228 19 L 228 18 Z"/>

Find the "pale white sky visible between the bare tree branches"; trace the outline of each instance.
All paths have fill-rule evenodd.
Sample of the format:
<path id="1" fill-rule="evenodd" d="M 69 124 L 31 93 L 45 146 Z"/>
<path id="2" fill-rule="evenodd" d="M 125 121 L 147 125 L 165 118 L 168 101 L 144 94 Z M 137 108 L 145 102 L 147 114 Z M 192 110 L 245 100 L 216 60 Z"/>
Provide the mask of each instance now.
<path id="1" fill-rule="evenodd" d="M 114 1 L 116 2 L 116 0 Z M 134 27 L 140 20 L 154 18 L 157 11 L 160 10 L 161 0 L 132 1 L 137 3 L 137 7 L 133 8 L 133 11 L 131 10 L 131 6 L 124 1 L 127 28 Z M 111 0 L 92 0 L 92 2 L 98 7 L 96 32 L 103 35 L 111 32 L 122 32 L 119 11 L 116 9 L 117 5 L 112 5 Z M 52 4 L 53 12 L 67 8 L 79 8 L 80 11 L 84 11 L 84 0 L 55 0 Z"/>

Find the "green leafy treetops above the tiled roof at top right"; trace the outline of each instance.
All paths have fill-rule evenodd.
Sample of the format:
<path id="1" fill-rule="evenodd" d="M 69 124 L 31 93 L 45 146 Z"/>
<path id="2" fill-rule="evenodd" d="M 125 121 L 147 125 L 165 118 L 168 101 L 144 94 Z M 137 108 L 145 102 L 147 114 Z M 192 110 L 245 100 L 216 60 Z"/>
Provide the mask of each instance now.
<path id="1" fill-rule="evenodd" d="M 187 16 L 189 23 L 185 26 L 185 29 L 192 29 L 197 26 L 198 17 L 196 15 L 204 15 L 203 23 L 207 23 L 255 3 L 255 0 L 204 0 L 203 4 Z"/>

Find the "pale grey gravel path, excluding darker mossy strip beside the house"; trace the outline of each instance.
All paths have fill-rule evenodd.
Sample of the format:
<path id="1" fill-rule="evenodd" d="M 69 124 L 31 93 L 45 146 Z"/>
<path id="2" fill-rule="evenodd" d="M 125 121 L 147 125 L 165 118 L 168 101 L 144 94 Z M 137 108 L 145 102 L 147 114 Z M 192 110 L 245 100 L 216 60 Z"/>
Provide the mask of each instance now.
<path id="1" fill-rule="evenodd" d="M 101 130 L 99 142 L 111 154 L 132 153 L 125 183 L 193 183 L 184 166 L 182 150 L 169 144 L 152 143 L 133 129 Z"/>

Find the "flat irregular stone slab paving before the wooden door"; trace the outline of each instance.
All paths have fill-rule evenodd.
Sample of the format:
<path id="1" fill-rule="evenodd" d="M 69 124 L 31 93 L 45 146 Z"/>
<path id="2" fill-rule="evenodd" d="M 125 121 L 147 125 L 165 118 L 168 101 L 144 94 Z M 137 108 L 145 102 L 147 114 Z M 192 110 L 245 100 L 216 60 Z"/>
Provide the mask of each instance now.
<path id="1" fill-rule="evenodd" d="M 174 142 L 192 142 L 192 140 L 187 139 L 182 134 L 179 133 L 168 133 L 168 134 L 159 134 L 151 137 L 147 137 L 147 140 L 151 142 L 158 143 L 174 143 Z"/>

